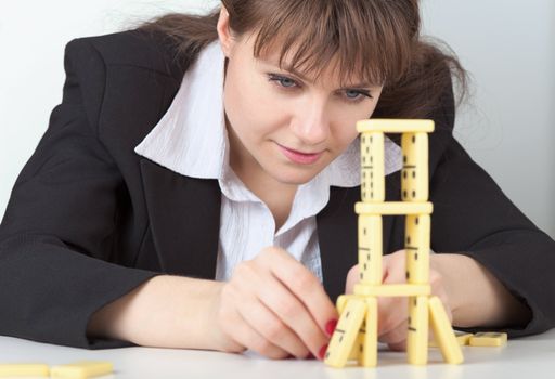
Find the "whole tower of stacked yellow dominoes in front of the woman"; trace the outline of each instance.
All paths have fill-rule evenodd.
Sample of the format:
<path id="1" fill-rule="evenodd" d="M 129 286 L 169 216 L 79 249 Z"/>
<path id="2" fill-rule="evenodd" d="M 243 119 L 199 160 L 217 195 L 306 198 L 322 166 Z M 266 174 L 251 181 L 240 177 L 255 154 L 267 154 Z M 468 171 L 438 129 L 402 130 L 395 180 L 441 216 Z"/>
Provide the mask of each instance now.
<path id="1" fill-rule="evenodd" d="M 428 328 L 450 364 L 463 362 L 461 347 L 443 304 L 430 295 L 430 214 L 428 201 L 428 133 L 431 120 L 369 119 L 357 122 L 361 133 L 361 197 L 359 214 L 360 280 L 353 295 L 337 299 L 340 314 L 327 348 L 324 363 L 344 367 L 349 360 L 359 365 L 377 364 L 377 298 L 406 297 L 409 330 L 406 353 L 410 364 L 428 361 Z M 385 201 L 385 133 L 400 133 L 403 153 L 402 201 Z M 405 215 L 406 283 L 382 283 L 382 217 Z"/>

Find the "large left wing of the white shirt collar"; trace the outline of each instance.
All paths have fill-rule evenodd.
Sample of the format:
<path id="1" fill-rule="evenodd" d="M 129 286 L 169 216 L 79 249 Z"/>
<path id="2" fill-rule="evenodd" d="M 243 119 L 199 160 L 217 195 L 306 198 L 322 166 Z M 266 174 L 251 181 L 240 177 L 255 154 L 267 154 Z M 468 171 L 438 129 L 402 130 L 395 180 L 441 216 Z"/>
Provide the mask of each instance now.
<path id="1" fill-rule="evenodd" d="M 229 162 L 224 55 L 210 43 L 184 75 L 170 107 L 135 153 L 185 177 L 220 179 Z"/>

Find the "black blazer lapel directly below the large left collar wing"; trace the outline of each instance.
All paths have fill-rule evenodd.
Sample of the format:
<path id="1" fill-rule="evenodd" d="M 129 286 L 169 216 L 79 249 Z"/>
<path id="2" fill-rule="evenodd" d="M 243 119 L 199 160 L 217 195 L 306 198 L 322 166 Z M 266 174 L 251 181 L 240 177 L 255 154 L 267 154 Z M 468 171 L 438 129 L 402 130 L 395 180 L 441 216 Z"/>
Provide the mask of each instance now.
<path id="1" fill-rule="evenodd" d="M 162 270 L 214 279 L 220 228 L 218 181 L 183 177 L 144 158 L 140 165 Z"/>

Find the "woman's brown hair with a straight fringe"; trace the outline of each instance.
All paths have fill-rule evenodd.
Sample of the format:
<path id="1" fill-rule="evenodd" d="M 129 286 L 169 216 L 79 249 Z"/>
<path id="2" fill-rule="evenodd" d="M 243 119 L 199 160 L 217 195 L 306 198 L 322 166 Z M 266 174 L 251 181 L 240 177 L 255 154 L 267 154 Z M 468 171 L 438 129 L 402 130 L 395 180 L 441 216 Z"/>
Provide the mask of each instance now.
<path id="1" fill-rule="evenodd" d="M 418 0 L 222 0 L 237 36 L 256 34 L 255 56 L 278 48 L 280 63 L 317 77 L 336 62 L 341 79 L 384 83 L 374 117 L 426 118 L 466 73 L 452 53 L 420 36 Z M 208 15 L 168 14 L 140 27 L 162 31 L 191 60 L 218 38 L 219 9 Z M 334 60 L 335 58 L 335 60 Z"/>

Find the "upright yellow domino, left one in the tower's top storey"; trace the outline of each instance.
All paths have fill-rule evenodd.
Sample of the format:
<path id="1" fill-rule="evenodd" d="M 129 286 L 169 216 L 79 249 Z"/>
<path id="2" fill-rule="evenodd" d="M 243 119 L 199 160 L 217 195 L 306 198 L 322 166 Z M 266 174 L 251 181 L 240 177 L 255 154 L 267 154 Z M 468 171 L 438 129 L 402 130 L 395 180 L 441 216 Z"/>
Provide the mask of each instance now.
<path id="1" fill-rule="evenodd" d="M 361 198 L 383 202 L 386 198 L 384 133 L 361 135 Z"/>

